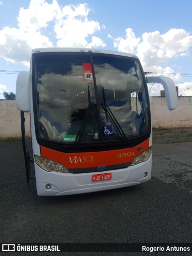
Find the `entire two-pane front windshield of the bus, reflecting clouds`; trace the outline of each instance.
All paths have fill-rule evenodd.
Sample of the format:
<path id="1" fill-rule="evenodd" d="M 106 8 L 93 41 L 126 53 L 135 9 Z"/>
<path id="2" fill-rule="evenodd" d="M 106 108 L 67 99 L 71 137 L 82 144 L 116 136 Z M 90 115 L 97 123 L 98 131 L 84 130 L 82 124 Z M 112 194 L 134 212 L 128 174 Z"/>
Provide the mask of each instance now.
<path id="1" fill-rule="evenodd" d="M 34 54 L 36 134 L 63 145 L 128 143 L 150 130 L 146 82 L 137 58 Z"/>

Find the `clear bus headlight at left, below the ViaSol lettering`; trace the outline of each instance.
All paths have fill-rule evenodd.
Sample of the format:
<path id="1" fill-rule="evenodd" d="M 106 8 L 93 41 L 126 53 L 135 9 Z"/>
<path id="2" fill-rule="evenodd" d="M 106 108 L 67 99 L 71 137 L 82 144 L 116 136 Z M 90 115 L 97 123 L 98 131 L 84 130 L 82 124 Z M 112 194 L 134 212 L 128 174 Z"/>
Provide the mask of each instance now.
<path id="1" fill-rule="evenodd" d="M 35 155 L 35 162 L 47 172 L 68 172 L 67 168 L 63 164 L 59 164 L 41 156 Z"/>

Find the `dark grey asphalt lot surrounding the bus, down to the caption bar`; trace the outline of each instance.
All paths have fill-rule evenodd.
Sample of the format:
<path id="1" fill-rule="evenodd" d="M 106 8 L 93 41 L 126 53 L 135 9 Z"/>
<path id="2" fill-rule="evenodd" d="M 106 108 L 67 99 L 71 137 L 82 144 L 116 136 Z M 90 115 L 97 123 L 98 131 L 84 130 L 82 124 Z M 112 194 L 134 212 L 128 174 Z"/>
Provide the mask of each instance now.
<path id="1" fill-rule="evenodd" d="M 192 242 L 192 142 L 154 144 L 149 182 L 62 197 L 37 196 L 35 181 L 26 184 L 20 140 L 1 141 L 0 148 L 2 243 Z"/>

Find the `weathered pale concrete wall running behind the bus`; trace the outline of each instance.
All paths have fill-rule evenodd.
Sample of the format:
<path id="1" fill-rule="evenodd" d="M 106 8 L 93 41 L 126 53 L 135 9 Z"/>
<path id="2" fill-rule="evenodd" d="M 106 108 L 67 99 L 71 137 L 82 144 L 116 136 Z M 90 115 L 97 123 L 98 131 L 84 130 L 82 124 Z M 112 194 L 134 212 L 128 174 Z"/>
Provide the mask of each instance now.
<path id="1" fill-rule="evenodd" d="M 134 100 L 134 99 L 133 99 Z M 154 128 L 192 126 L 192 96 L 178 97 L 178 107 L 169 111 L 164 97 L 150 97 Z M 30 136 L 30 114 L 25 113 L 26 135 Z M 0 100 L 0 139 L 21 137 L 20 110 L 15 100 Z"/>

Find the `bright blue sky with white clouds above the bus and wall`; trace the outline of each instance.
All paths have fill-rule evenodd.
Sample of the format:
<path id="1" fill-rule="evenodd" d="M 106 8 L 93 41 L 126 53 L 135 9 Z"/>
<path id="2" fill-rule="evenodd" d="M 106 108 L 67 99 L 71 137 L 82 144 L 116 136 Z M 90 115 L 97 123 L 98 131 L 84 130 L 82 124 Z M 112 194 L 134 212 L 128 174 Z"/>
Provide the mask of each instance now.
<path id="1" fill-rule="evenodd" d="M 179 95 L 192 95 L 191 0 L 0 0 L 0 99 L 15 93 L 31 50 L 44 47 L 136 54 L 144 72 L 169 76 Z M 163 90 L 148 88 L 150 96 Z"/>

